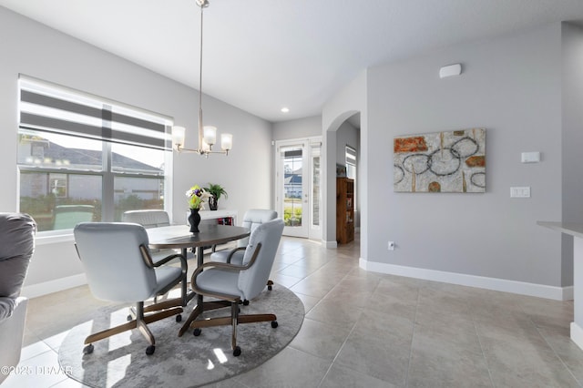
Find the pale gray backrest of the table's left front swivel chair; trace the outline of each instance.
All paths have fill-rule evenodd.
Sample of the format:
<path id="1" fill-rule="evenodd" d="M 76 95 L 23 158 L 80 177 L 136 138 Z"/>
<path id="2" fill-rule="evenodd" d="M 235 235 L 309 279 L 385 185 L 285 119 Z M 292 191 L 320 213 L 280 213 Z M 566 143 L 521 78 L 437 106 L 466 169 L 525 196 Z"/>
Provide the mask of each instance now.
<path id="1" fill-rule="evenodd" d="M 156 273 L 139 250 L 148 247 L 143 226 L 123 222 L 81 222 L 75 230 L 77 253 L 89 289 L 104 301 L 145 301 L 156 287 Z"/>

